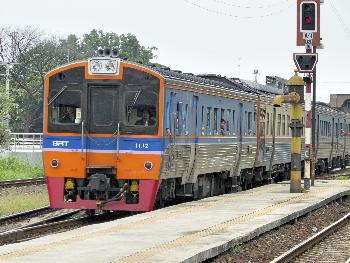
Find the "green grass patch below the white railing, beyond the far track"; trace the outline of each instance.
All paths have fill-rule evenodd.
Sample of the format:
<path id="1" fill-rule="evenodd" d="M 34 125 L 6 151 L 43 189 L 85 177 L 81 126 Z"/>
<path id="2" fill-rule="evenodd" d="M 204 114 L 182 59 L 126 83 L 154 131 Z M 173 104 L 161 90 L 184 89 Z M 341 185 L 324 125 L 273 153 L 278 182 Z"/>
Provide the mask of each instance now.
<path id="1" fill-rule="evenodd" d="M 44 176 L 44 171 L 41 167 L 31 166 L 15 157 L 0 159 L 0 181 L 42 176 Z"/>

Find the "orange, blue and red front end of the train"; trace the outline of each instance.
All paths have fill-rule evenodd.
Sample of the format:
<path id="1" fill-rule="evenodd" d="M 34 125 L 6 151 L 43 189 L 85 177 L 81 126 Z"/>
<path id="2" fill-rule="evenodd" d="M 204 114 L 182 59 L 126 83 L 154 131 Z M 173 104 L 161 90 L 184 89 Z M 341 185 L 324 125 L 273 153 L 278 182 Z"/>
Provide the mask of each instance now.
<path id="1" fill-rule="evenodd" d="M 45 79 L 43 159 L 53 208 L 152 210 L 163 78 L 106 56 Z"/>

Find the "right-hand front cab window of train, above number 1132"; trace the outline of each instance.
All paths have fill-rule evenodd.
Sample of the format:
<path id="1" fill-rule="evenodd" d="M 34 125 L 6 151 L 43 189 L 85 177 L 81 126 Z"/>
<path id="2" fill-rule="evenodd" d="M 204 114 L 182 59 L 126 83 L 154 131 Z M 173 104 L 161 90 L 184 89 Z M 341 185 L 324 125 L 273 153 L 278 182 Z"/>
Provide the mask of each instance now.
<path id="1" fill-rule="evenodd" d="M 128 125 L 155 126 L 157 124 L 157 95 L 143 89 L 125 94 L 125 114 Z"/>

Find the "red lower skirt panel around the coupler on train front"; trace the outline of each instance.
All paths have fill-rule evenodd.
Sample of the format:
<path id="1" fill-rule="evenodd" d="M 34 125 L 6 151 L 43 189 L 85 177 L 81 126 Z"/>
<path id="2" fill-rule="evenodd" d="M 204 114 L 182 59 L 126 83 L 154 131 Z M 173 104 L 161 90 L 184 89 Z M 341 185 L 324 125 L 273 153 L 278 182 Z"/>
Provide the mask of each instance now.
<path id="1" fill-rule="evenodd" d="M 96 209 L 95 200 L 82 200 L 77 197 L 76 202 L 64 202 L 64 178 L 63 177 L 46 177 L 47 188 L 49 191 L 50 206 L 52 208 L 67 209 Z M 139 182 L 139 203 L 126 204 L 123 198 L 120 201 L 112 201 L 105 204 L 103 210 L 119 211 L 151 211 L 158 191 L 159 181 L 157 180 L 140 180 Z"/>

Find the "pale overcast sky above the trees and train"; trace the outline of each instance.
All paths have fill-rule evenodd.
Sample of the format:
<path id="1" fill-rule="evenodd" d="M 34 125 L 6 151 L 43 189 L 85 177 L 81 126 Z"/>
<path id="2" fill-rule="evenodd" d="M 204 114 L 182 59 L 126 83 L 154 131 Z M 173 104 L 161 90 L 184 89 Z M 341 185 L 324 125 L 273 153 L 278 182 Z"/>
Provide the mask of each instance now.
<path id="1" fill-rule="evenodd" d="M 134 34 L 156 46 L 158 62 L 194 74 L 258 81 L 294 74 L 296 0 L 11 0 L 2 1 L 0 25 L 82 36 L 92 29 Z M 350 94 L 350 1 L 324 0 L 318 50 L 317 99 Z"/>

